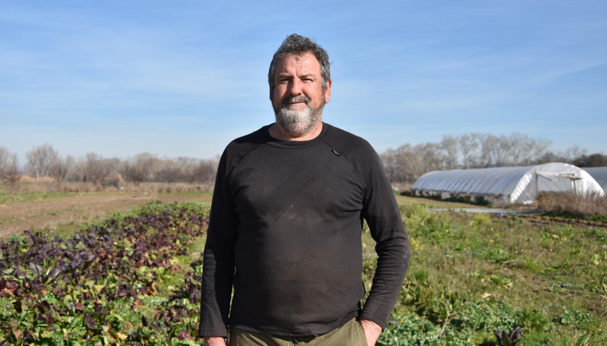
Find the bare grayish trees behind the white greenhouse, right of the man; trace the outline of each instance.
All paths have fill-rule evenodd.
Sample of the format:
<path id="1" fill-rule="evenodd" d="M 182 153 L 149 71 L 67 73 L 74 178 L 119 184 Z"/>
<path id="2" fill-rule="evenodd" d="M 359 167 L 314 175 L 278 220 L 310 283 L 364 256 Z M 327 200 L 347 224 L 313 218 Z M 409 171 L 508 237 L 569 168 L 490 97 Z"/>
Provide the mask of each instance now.
<path id="1" fill-rule="evenodd" d="M 492 135 L 473 132 L 461 136 L 444 135 L 440 142 L 405 144 L 380 156 L 390 181 L 411 183 L 430 171 L 456 168 L 530 166 L 548 162 L 571 163 L 578 167 L 607 166 L 607 155 L 588 155 L 572 146 L 565 152 L 551 151 L 552 142 L 513 132 Z"/>

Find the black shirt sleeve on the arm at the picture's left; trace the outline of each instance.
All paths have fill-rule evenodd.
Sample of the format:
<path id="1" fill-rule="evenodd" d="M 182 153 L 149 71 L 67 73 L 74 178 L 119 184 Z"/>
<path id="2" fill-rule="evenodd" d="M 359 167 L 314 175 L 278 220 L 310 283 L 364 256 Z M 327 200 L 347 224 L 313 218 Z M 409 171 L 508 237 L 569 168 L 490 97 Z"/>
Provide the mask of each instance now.
<path id="1" fill-rule="evenodd" d="M 227 149 L 226 149 L 227 150 Z M 203 253 L 202 294 L 198 336 L 227 336 L 234 279 L 234 242 L 238 218 L 228 188 L 226 151 L 217 168 L 211 215 Z"/>

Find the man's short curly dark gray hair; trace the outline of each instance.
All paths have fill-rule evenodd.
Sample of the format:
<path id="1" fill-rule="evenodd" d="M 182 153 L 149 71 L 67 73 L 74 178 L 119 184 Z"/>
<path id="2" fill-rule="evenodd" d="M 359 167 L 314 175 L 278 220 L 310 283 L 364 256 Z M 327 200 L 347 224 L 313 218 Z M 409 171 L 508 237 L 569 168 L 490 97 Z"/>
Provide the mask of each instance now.
<path id="1" fill-rule="evenodd" d="M 290 34 L 285 41 L 282 41 L 280 47 L 274 53 L 272 62 L 270 63 L 270 71 L 268 71 L 268 83 L 274 89 L 274 72 L 276 65 L 285 56 L 298 54 L 303 56 L 305 53 L 312 53 L 320 64 L 320 76 L 322 76 L 322 88 L 327 89 L 327 83 L 331 79 L 331 71 L 329 70 L 329 54 L 320 47 L 313 39 L 298 34 Z"/>

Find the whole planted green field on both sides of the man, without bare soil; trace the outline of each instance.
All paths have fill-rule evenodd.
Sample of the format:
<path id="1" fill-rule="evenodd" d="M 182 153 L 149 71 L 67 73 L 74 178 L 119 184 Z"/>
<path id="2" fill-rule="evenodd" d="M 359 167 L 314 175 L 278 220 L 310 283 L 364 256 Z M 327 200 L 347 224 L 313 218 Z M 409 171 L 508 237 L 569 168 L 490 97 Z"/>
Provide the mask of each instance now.
<path id="1" fill-rule="evenodd" d="M 378 345 L 495 345 L 496 329 L 518 327 L 518 345 L 607 344 L 607 224 L 429 212 L 462 205 L 397 198 L 412 256 Z M 152 201 L 11 235 L 0 245 L 0 345 L 202 344 L 208 211 L 208 200 Z M 368 291 L 368 229 L 362 242 Z"/>

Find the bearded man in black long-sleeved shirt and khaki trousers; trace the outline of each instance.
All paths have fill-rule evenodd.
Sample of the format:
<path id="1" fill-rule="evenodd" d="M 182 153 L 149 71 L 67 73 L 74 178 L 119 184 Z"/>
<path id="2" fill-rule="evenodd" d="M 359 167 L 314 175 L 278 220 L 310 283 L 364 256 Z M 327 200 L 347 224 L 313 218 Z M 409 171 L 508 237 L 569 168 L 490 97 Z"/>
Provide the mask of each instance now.
<path id="1" fill-rule="evenodd" d="M 198 336 L 222 346 L 375 345 L 409 264 L 392 186 L 369 143 L 322 122 L 332 85 L 322 47 L 288 36 L 268 83 L 276 122 L 229 143 L 219 162 Z M 364 220 L 378 263 L 362 307 Z"/>

